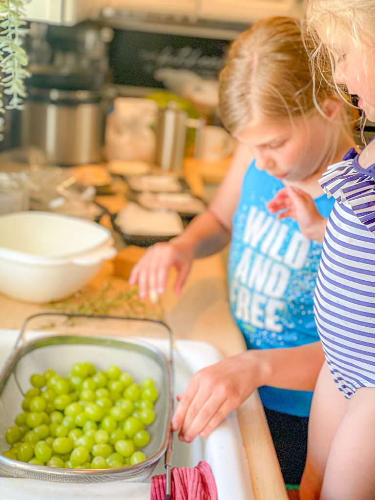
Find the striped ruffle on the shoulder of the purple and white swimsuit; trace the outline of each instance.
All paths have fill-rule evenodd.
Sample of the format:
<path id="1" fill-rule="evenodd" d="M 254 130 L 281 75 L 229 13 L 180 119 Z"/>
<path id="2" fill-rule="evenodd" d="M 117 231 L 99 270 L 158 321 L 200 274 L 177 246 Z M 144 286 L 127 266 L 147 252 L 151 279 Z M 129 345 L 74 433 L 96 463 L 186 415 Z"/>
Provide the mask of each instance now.
<path id="1" fill-rule="evenodd" d="M 343 161 L 328 167 L 319 183 L 328 197 L 346 202 L 360 222 L 375 234 L 375 178 L 364 169 L 354 168 L 357 156 L 355 150 L 350 150 Z"/>

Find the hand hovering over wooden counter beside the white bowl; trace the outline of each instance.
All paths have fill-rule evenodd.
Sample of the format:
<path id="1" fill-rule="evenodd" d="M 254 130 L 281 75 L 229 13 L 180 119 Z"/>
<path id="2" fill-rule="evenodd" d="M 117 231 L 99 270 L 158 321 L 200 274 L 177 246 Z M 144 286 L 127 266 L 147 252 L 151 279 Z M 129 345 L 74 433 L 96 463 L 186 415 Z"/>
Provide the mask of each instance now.
<path id="1" fill-rule="evenodd" d="M 174 291 L 179 293 L 185 282 L 193 260 L 192 249 L 183 244 L 156 243 L 150 246 L 143 257 L 131 269 L 129 283 L 138 284 L 139 296 L 150 298 L 165 291 L 171 267 L 177 269 Z"/>

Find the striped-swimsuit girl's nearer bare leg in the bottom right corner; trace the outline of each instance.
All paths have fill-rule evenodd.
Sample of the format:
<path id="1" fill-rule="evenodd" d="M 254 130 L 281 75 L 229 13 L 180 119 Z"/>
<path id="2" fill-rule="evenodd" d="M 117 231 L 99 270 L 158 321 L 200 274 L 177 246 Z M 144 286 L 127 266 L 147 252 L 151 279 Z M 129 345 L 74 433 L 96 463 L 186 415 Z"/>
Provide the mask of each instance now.
<path id="1" fill-rule="evenodd" d="M 375 500 L 375 387 L 351 397 L 333 438 L 320 500 Z"/>

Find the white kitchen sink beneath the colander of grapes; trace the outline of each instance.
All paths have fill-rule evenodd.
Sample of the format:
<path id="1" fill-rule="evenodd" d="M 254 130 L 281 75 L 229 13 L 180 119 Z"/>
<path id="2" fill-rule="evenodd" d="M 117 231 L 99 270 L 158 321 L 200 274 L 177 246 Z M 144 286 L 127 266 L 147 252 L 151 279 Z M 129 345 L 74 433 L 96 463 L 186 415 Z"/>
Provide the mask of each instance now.
<path id="1" fill-rule="evenodd" d="M 45 331 L 43 332 L 45 334 Z M 17 337 L 15 330 L 0 329 L 0 366 L 3 365 Z M 167 353 L 164 339 L 148 339 Z M 192 374 L 200 368 L 221 359 L 220 352 L 205 342 L 177 340 L 174 345 L 173 365 L 175 392 L 186 387 Z M 0 408 L 1 410 L 1 408 Z M 206 460 L 215 477 L 218 499 L 251 500 L 252 488 L 248 475 L 246 455 L 238 428 L 236 412 L 228 417 L 205 439 L 197 437 L 192 443 L 182 443 L 174 436 L 172 466 L 197 465 Z M 153 474 L 164 473 L 163 459 Z M 65 484 L 0 477 L 0 498 L 4 500 L 148 500 L 149 483 L 107 482 L 95 484 Z"/>

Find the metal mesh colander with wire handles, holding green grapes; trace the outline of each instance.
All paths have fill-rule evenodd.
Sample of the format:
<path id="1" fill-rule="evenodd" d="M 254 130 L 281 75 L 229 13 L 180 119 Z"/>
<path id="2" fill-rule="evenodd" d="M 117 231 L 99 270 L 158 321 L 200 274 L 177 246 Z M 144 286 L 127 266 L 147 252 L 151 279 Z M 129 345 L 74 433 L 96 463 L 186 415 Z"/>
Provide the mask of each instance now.
<path id="1" fill-rule="evenodd" d="M 44 320 L 64 314 L 39 314 L 31 316 Z M 54 331 L 77 330 L 79 335 L 57 334 L 37 336 L 24 341 L 25 327 L 22 328 L 17 345 L 0 374 L 0 451 L 8 449 L 4 435 L 5 430 L 14 422 L 14 417 L 21 412 L 23 394 L 30 388 L 29 377 L 33 373 L 42 373 L 52 368 L 56 373 L 65 376 L 74 362 L 92 362 L 96 369 L 106 370 L 111 364 L 117 364 L 122 371 L 128 371 L 135 381 L 140 382 L 149 376 L 155 381 L 159 397 L 155 402 L 155 421 L 147 427 L 151 440 L 143 449 L 147 459 L 136 465 L 112 469 L 63 469 L 19 462 L 0 455 L 0 473 L 8 476 L 26 477 L 57 482 L 103 482 L 103 481 L 144 481 L 152 473 L 160 457 L 165 453 L 169 441 L 171 400 L 171 358 L 168 360 L 153 345 L 135 339 L 121 339 L 96 336 L 97 328 L 87 326 L 88 318 L 79 315 L 69 315 L 70 321 L 76 321 L 71 327 L 63 323 Z M 97 319 L 111 322 L 121 321 L 123 335 L 153 336 L 165 333 L 170 338 L 169 328 L 160 322 L 151 320 L 134 320 L 128 318 L 91 316 L 89 321 Z M 83 320 L 83 326 L 82 326 Z M 94 330 L 95 336 L 82 336 Z M 105 323 L 106 331 L 111 323 Z"/>

